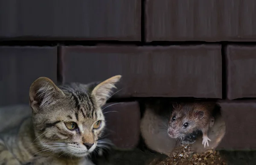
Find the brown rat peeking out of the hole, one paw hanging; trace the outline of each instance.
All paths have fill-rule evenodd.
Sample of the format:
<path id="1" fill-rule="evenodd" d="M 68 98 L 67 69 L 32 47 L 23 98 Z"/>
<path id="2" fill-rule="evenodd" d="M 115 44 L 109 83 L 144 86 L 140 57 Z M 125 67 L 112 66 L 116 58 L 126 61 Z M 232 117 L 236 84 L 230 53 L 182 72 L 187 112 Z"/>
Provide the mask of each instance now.
<path id="1" fill-rule="evenodd" d="M 202 131 L 202 144 L 209 146 L 211 139 L 208 137 L 208 129 L 214 123 L 212 117 L 215 104 L 213 102 L 188 102 L 173 104 L 173 110 L 168 122 L 169 137 L 183 140 L 195 131 Z"/>

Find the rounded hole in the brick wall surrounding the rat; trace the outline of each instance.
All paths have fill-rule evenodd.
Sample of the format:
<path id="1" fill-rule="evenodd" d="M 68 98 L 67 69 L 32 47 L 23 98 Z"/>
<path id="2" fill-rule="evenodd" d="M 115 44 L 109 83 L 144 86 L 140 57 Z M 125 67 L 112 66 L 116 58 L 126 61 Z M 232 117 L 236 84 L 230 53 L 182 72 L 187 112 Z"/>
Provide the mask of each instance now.
<path id="1" fill-rule="evenodd" d="M 191 103 L 198 102 L 201 105 L 203 102 L 209 102 L 212 106 L 212 117 L 214 121 L 208 130 L 208 137 L 211 139 L 209 146 L 204 148 L 202 145 L 202 132 L 193 130 L 187 134 L 183 140 L 171 138 L 168 134 L 169 119 L 173 111 L 173 105 L 176 103 Z M 191 150 L 196 153 L 207 151 L 211 148 L 217 148 L 225 135 L 225 123 L 221 116 L 221 107 L 217 100 L 212 99 L 195 99 L 195 98 L 159 98 L 148 99 L 145 101 L 145 111 L 141 119 L 141 135 L 145 145 L 152 151 L 169 155 L 172 151 L 180 146 L 180 143 L 189 144 Z"/>

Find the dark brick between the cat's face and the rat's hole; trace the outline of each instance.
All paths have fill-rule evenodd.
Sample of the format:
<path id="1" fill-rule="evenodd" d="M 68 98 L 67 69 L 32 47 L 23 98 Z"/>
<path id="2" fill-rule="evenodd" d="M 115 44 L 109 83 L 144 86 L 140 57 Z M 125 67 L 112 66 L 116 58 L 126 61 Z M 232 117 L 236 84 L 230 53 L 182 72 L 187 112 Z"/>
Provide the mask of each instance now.
<path id="1" fill-rule="evenodd" d="M 135 148 L 140 139 L 138 102 L 111 102 L 104 107 L 102 109 L 107 121 L 107 137 L 117 148 Z"/>

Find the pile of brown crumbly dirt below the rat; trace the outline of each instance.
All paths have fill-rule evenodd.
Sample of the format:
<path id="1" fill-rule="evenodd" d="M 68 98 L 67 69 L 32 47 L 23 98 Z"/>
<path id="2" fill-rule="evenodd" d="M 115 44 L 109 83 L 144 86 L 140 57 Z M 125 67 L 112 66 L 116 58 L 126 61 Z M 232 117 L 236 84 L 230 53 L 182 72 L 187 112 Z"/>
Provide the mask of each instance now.
<path id="1" fill-rule="evenodd" d="M 209 150 L 201 154 L 190 151 L 190 146 L 180 146 L 167 159 L 157 165 L 227 165 L 218 151 Z"/>

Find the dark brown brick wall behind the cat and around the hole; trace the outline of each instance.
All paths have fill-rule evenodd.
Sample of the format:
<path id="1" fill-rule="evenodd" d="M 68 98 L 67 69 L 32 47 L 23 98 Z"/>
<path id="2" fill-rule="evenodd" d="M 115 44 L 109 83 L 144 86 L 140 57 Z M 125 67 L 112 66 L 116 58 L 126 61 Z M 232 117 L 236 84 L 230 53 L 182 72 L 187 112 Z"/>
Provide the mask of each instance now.
<path id="1" fill-rule="evenodd" d="M 142 97 L 196 97 L 220 99 L 222 148 L 255 149 L 255 9 L 254 0 L 0 0 L 0 105 L 27 103 L 41 76 L 122 74 L 114 98 L 125 104 L 105 109 L 119 111 L 106 114 L 120 118 L 109 125 L 117 146 L 137 145 Z"/>

